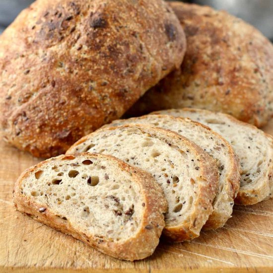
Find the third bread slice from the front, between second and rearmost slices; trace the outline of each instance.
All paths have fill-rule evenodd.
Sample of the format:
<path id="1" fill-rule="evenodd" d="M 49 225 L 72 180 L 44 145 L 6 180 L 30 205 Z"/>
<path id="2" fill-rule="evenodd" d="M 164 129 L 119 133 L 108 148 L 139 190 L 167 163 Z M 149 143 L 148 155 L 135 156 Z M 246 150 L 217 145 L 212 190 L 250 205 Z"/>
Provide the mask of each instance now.
<path id="1" fill-rule="evenodd" d="M 213 200 L 213 212 L 206 221 L 204 229 L 222 227 L 231 217 L 234 199 L 240 187 L 240 167 L 230 144 L 203 124 L 169 115 L 146 115 L 128 120 L 116 120 L 108 126 L 128 123 L 150 124 L 172 130 L 189 138 L 216 159 L 220 176 L 219 187 Z"/>

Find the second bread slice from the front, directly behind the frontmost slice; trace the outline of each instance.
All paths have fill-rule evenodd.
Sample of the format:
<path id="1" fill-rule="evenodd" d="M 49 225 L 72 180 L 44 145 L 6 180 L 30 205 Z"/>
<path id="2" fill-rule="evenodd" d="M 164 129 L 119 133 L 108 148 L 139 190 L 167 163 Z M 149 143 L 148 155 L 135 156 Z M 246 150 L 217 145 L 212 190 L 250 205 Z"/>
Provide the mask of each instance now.
<path id="1" fill-rule="evenodd" d="M 150 172 L 168 202 L 163 231 L 173 241 L 198 237 L 218 187 L 215 160 L 183 136 L 149 125 L 129 124 L 98 130 L 69 150 L 114 155 Z"/>

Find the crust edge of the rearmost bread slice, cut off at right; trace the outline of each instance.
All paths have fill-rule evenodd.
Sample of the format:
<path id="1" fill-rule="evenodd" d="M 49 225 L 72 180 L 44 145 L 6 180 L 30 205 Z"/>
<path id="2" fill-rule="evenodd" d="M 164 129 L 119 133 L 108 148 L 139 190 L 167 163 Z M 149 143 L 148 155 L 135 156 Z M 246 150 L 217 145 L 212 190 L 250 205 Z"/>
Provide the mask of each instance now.
<path id="1" fill-rule="evenodd" d="M 169 109 L 169 110 L 165 110 L 162 112 L 164 114 L 169 114 L 169 115 L 172 115 L 172 113 L 177 113 L 178 115 L 180 115 L 179 113 L 181 113 L 181 116 L 184 116 L 184 117 L 186 117 L 185 113 L 187 113 L 187 112 L 200 113 L 200 115 L 202 117 L 205 117 L 207 114 L 214 113 L 214 112 L 211 112 L 208 110 L 192 109 L 192 108 Z M 183 112 L 185 112 L 185 113 L 183 114 Z M 239 126 L 243 126 L 246 128 L 246 130 L 249 128 L 251 130 L 258 132 L 259 134 L 261 134 L 261 136 L 265 136 L 269 140 L 268 150 L 270 151 L 270 153 L 273 157 L 273 137 L 272 136 L 264 133 L 262 130 L 259 130 L 257 127 L 255 127 L 251 124 L 248 124 L 248 123 L 241 122 L 230 115 L 223 114 L 223 113 L 214 113 L 214 114 L 217 115 L 217 117 L 219 117 L 219 115 L 221 115 L 222 117 L 227 118 L 232 123 L 234 123 L 234 125 L 237 124 Z M 200 121 L 200 122 L 202 122 L 202 121 Z M 247 143 L 246 143 L 246 145 L 247 145 Z M 235 153 L 236 153 L 236 150 L 235 150 Z M 240 161 L 240 158 L 238 158 L 238 160 Z M 265 160 L 265 158 L 263 158 L 263 160 Z M 238 205 L 253 205 L 253 204 L 259 203 L 265 199 L 268 199 L 270 197 L 272 198 L 272 196 L 273 196 L 273 158 L 270 159 L 266 168 L 267 169 L 266 169 L 265 175 L 263 175 L 259 179 L 259 182 L 261 182 L 261 183 L 259 183 L 259 186 L 256 186 L 255 188 L 253 188 L 251 190 L 244 189 L 244 188 L 240 187 L 240 190 L 239 190 L 237 197 L 235 199 L 236 204 L 238 204 Z"/>

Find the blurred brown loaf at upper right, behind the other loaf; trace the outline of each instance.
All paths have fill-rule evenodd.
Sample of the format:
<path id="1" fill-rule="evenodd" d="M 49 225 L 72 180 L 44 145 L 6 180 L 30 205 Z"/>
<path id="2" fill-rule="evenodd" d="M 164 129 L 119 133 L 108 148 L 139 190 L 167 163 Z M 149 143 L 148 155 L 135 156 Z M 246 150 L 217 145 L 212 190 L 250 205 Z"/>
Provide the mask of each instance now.
<path id="1" fill-rule="evenodd" d="M 194 107 L 258 127 L 273 115 L 273 45 L 246 22 L 208 6 L 171 2 L 187 37 L 180 69 L 148 91 L 131 113 Z"/>

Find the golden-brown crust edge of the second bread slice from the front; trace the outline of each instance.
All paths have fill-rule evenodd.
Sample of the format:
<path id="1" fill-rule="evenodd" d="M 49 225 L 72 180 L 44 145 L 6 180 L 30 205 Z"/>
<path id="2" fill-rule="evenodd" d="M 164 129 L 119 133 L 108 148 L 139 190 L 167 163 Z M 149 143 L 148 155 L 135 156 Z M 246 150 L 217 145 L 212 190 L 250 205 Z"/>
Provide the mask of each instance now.
<path id="1" fill-rule="evenodd" d="M 105 127 L 94 133 L 82 137 L 76 143 L 74 143 L 67 151 L 72 153 L 76 150 L 76 147 L 88 140 L 91 137 L 95 137 L 96 134 L 100 134 L 102 131 L 114 131 L 117 128 L 137 128 L 142 133 L 148 133 L 151 136 L 161 137 L 168 139 L 174 147 L 178 148 L 181 145 L 186 145 L 189 150 L 195 155 L 200 165 L 202 172 L 199 185 L 199 191 L 196 194 L 196 201 L 194 202 L 194 212 L 180 225 L 166 226 L 163 230 L 163 235 L 168 240 L 175 242 L 181 242 L 185 240 L 192 240 L 200 235 L 200 230 L 205 224 L 208 216 L 212 212 L 212 202 L 216 194 L 216 189 L 219 183 L 219 174 L 215 160 L 212 159 L 201 147 L 190 141 L 184 136 L 180 136 L 172 131 L 165 130 L 158 127 L 152 127 L 146 124 L 127 124 L 118 127 Z"/>

